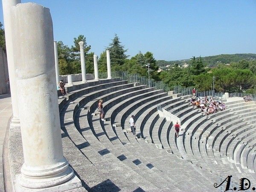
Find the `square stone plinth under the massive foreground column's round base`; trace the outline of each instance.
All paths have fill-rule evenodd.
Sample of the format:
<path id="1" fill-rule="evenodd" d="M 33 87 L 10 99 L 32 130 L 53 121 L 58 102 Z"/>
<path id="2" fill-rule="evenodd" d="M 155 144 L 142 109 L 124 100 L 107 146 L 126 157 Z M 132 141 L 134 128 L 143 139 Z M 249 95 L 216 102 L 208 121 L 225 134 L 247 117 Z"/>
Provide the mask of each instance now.
<path id="1" fill-rule="evenodd" d="M 47 187 L 47 188 L 39 188 L 39 189 L 32 189 L 21 186 L 19 183 L 20 175 L 16 175 L 16 182 L 15 182 L 15 192 L 56 192 L 56 191 L 67 191 L 76 189 L 82 186 L 81 180 L 76 175 L 73 175 L 70 180 L 62 183 L 60 185 Z"/>

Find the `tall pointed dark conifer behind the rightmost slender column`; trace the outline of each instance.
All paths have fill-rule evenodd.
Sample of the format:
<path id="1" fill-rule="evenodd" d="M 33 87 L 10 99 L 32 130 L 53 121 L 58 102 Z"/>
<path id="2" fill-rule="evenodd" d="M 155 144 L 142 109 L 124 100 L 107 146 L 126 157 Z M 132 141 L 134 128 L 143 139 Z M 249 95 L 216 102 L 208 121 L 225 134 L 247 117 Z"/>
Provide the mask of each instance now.
<path id="1" fill-rule="evenodd" d="M 127 52 L 127 49 L 124 49 L 125 46 L 121 45 L 121 42 L 119 41 L 119 37 L 116 34 L 114 38 L 111 39 L 111 41 L 112 42 L 109 44 L 109 47 L 108 47 L 110 52 L 111 65 L 113 67 L 118 65 L 123 65 L 125 62 L 125 59 L 128 57 L 128 55 L 125 55 L 125 52 Z"/>

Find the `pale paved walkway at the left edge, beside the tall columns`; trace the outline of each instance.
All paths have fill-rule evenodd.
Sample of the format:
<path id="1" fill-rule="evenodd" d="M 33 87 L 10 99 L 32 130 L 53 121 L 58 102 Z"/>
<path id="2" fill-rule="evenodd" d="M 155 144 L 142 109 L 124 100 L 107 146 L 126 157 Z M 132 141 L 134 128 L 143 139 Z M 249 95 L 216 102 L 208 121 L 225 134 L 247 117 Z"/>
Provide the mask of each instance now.
<path id="1" fill-rule="evenodd" d="M 0 191 L 3 186 L 3 141 L 6 134 L 8 120 L 12 116 L 12 100 L 10 95 L 0 96 Z"/>

